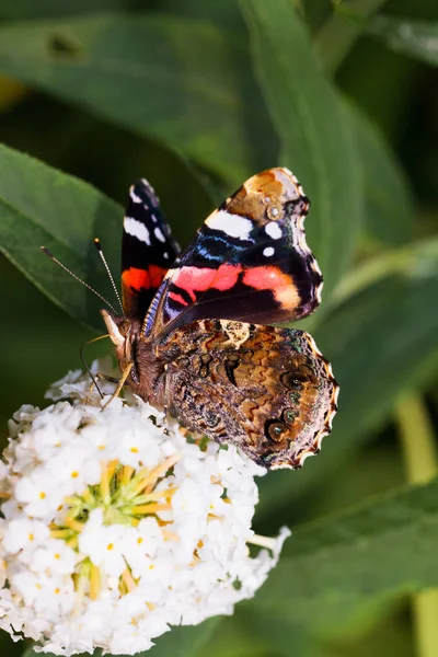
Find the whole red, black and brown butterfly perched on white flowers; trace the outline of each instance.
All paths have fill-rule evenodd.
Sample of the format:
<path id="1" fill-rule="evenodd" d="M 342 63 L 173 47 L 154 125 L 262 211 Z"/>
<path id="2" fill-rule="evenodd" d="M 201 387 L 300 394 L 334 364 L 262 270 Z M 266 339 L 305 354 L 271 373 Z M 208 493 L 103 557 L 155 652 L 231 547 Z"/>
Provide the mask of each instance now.
<path id="1" fill-rule="evenodd" d="M 313 338 L 270 325 L 321 301 L 309 207 L 290 171 L 269 169 L 181 251 L 153 188 L 139 181 L 123 224 L 124 314 L 101 311 L 134 393 L 268 469 L 300 468 L 337 410 L 338 385 Z"/>

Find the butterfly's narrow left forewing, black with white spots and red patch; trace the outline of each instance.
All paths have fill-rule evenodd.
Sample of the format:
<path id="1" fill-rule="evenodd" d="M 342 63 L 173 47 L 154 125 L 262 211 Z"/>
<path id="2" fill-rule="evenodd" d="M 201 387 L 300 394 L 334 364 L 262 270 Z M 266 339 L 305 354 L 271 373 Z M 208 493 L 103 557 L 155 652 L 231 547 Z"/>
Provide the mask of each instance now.
<path id="1" fill-rule="evenodd" d="M 146 181 L 129 189 L 122 239 L 122 300 L 128 318 L 143 320 L 180 247 Z"/>

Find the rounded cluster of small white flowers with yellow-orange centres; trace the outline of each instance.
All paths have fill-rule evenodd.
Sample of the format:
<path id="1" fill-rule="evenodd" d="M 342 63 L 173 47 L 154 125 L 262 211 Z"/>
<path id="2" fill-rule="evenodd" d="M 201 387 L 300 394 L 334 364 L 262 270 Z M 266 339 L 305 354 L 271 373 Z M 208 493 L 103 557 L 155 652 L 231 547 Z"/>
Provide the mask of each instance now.
<path id="1" fill-rule="evenodd" d="M 73 372 L 49 394 L 74 403 L 23 406 L 10 423 L 0 627 L 57 655 L 135 654 L 171 625 L 232 613 L 290 532 L 254 535 L 265 471 L 234 447 L 186 439 L 139 400 L 102 408 L 87 388 Z M 269 550 L 251 556 L 249 543 Z"/>

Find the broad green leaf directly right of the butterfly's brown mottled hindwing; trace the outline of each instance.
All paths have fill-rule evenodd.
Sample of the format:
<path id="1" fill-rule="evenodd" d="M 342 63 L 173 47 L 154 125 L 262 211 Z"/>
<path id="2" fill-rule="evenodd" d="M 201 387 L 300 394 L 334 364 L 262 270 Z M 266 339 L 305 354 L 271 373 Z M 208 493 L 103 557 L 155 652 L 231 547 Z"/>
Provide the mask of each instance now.
<path id="1" fill-rule="evenodd" d="M 313 336 L 341 384 L 333 433 L 297 473 L 261 482 L 257 518 L 315 492 L 391 416 L 402 392 L 427 384 L 438 365 L 438 239 L 385 254 L 347 278 L 338 306 Z M 291 511 L 289 510 L 289 514 Z"/>

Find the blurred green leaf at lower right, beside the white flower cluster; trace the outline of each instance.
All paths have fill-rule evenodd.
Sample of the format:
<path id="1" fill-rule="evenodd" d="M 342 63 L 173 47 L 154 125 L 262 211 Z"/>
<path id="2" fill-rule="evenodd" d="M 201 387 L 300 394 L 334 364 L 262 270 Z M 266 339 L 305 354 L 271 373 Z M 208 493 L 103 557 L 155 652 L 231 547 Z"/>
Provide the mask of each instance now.
<path id="1" fill-rule="evenodd" d="M 297 528 L 252 604 L 339 626 L 364 606 L 438 586 L 437 542 L 436 480 Z"/>

